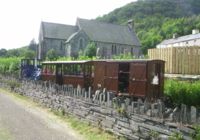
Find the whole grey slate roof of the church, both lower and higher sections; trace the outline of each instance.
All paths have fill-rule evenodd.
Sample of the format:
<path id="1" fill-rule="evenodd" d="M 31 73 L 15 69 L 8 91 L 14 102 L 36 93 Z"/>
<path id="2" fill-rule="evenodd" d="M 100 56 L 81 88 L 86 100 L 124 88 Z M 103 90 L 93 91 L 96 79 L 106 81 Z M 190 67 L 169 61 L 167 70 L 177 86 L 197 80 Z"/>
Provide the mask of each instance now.
<path id="1" fill-rule="evenodd" d="M 93 41 L 141 46 L 133 30 L 125 25 L 103 23 L 96 20 L 77 19 L 77 25 L 42 22 L 43 37 L 69 41 L 83 30 Z"/>

